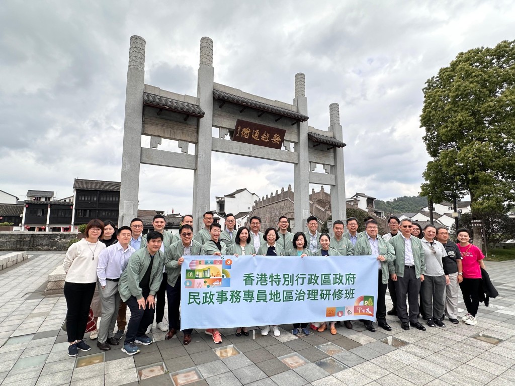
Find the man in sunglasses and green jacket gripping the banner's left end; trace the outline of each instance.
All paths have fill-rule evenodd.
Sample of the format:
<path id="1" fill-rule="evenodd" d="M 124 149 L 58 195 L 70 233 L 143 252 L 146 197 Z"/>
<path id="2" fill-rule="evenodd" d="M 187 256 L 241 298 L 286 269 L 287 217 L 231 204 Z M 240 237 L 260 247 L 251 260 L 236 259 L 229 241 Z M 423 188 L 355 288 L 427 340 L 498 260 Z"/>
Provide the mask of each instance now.
<path id="1" fill-rule="evenodd" d="M 192 240 L 193 227 L 184 224 L 179 229 L 180 240 L 171 244 L 165 253 L 165 268 L 167 273 L 166 295 L 168 297 L 168 318 L 170 329 L 166 333 L 164 340 L 169 340 L 181 330 L 179 305 L 181 304 L 181 265 L 184 261 L 183 256 L 198 256 L 202 245 Z M 183 344 L 191 342 L 193 328 L 183 330 Z"/>

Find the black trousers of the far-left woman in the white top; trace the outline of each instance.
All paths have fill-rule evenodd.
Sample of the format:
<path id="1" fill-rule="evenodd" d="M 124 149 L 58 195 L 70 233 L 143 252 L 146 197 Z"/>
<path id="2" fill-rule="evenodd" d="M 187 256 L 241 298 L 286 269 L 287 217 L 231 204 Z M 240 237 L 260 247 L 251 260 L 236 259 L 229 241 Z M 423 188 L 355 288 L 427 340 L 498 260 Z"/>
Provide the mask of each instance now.
<path id="1" fill-rule="evenodd" d="M 95 286 L 96 283 L 64 282 L 64 297 L 68 307 L 66 313 L 68 342 L 80 341 L 84 338 Z"/>

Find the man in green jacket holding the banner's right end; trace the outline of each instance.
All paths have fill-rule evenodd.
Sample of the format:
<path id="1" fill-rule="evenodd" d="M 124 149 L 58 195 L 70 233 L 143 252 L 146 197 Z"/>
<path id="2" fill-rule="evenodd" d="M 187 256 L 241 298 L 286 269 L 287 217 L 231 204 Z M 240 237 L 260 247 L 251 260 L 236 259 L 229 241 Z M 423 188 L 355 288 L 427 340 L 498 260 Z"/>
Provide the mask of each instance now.
<path id="1" fill-rule="evenodd" d="M 378 260 L 377 275 L 377 324 L 386 331 L 391 331 L 391 327 L 386 323 L 386 287 L 390 277 L 388 263 L 395 259 L 395 252 L 392 245 L 377 234 L 377 221 L 369 220 L 365 224 L 365 237 L 360 238 L 354 245 L 356 256 L 375 256 Z M 367 323 L 368 322 L 368 323 Z M 372 322 L 366 321 L 365 327 L 369 331 L 373 328 Z M 375 329 L 374 329 L 375 331 Z"/>

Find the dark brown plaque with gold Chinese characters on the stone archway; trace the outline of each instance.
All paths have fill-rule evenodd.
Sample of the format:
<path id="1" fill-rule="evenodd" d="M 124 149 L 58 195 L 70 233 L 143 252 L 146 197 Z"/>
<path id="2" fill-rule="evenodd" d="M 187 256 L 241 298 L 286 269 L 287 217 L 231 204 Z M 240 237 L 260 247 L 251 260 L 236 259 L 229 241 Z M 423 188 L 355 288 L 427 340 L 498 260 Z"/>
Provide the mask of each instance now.
<path id="1" fill-rule="evenodd" d="M 236 142 L 281 149 L 284 134 L 284 129 L 238 119 L 232 139 Z"/>

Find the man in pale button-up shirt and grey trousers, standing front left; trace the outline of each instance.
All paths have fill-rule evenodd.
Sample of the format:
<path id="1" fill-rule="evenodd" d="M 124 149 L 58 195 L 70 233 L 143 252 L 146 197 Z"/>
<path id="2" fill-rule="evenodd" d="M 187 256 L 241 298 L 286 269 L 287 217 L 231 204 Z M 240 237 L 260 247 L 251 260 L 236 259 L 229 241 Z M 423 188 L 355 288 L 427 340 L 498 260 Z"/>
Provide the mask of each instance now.
<path id="1" fill-rule="evenodd" d="M 130 227 L 119 227 L 116 238 L 118 242 L 104 249 L 98 256 L 98 293 L 102 303 L 102 319 L 98 328 L 97 346 L 103 351 L 110 350 L 111 345 L 119 344 L 113 334 L 120 304 L 118 280 L 127 267 L 130 255 L 135 252 L 129 245 L 132 238 Z"/>

